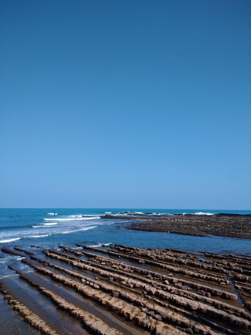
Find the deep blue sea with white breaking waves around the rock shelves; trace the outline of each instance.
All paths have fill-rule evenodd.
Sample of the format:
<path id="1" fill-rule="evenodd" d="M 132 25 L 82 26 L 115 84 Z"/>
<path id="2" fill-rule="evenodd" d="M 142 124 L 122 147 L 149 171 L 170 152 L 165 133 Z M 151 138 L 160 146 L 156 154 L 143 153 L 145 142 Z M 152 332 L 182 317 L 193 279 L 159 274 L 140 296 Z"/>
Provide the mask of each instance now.
<path id="1" fill-rule="evenodd" d="M 145 232 L 124 229 L 129 221 L 119 219 L 100 219 L 105 212 L 116 214 L 122 211 L 152 213 L 237 213 L 251 214 L 251 211 L 227 211 L 204 209 L 0 209 L 0 247 L 18 246 L 27 250 L 31 244 L 43 248 L 66 245 L 75 247 L 75 243 L 96 245 L 117 243 L 140 248 L 173 248 L 190 252 L 226 252 L 251 253 L 251 241 L 245 239 L 221 237 L 195 237 L 158 232 Z M 54 214 L 48 214 L 54 213 Z M 56 215 L 57 213 L 57 215 Z M 91 215 L 82 217 L 81 215 Z M 120 226 L 122 228 L 118 228 Z M 20 257 L 0 252 L 0 277 L 13 274 L 7 265 L 15 263 Z M 20 262 L 16 262 L 20 266 Z M 25 270 L 25 265 L 21 265 Z"/>

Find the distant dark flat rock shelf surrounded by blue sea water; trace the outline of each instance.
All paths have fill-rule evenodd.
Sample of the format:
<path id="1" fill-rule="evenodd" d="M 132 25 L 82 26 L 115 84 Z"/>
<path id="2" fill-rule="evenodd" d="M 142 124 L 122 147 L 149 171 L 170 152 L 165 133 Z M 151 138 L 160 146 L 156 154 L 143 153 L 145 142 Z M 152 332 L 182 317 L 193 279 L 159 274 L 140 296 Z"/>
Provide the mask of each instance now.
<path id="1" fill-rule="evenodd" d="M 122 219 L 133 222 L 126 229 L 169 232 L 192 236 L 224 236 L 240 239 L 251 239 L 251 215 L 238 214 L 176 214 L 146 216 L 102 215 L 103 219 Z"/>

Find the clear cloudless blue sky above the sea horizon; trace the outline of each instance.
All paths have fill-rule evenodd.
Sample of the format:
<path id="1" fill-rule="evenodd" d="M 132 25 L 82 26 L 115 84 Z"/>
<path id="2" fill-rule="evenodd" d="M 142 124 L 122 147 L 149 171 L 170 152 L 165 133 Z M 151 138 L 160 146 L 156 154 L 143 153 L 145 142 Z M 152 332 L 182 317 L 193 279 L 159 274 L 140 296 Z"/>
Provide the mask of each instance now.
<path id="1" fill-rule="evenodd" d="M 0 15 L 0 207 L 251 209 L 250 1 Z"/>

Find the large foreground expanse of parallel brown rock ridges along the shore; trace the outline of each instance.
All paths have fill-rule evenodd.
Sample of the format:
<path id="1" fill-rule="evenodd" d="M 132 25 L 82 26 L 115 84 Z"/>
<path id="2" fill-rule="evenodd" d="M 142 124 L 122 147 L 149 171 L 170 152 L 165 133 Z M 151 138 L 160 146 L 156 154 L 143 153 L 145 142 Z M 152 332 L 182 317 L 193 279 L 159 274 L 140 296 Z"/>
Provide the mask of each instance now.
<path id="1" fill-rule="evenodd" d="M 55 308 L 59 306 L 70 313 L 90 332 L 122 335 L 107 320 L 88 311 L 88 301 L 96 304 L 97 310 L 102 306 L 112 317 L 122 317 L 125 323 L 136 327 L 137 334 L 250 334 L 251 257 L 122 245 L 77 246 L 77 250 L 59 246 L 62 252 L 49 249 L 38 254 L 15 249 L 28 255 L 21 262 L 45 282 L 62 283 L 62 290 L 80 294 L 85 308 L 41 285 L 39 277 L 34 279 L 30 273 L 10 268 L 27 287 L 35 287 Z M 41 332 L 49 327 L 46 334 L 54 334 L 50 325 L 42 328 L 43 320 L 5 290 L 2 293 L 9 304 L 19 308 L 19 313 L 22 311 L 27 322 Z M 68 317 L 67 314 L 65 322 Z"/>

